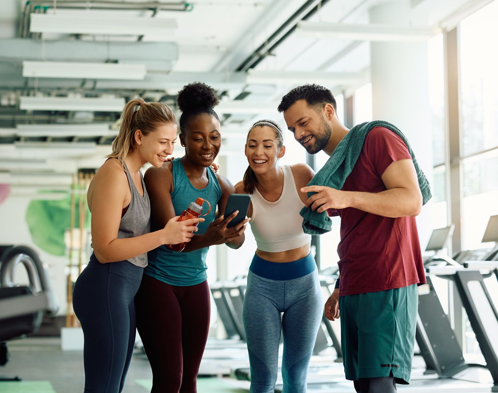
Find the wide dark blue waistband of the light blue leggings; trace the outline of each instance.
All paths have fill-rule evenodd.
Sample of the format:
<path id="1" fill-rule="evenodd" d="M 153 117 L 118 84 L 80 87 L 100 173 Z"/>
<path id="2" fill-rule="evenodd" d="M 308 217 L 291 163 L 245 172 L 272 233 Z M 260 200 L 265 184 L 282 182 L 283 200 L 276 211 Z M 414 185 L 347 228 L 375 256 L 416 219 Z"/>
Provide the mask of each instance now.
<path id="1" fill-rule="evenodd" d="M 309 253 L 306 257 L 292 262 L 270 262 L 254 254 L 249 270 L 270 280 L 293 280 L 303 277 L 316 269 L 315 259 Z"/>

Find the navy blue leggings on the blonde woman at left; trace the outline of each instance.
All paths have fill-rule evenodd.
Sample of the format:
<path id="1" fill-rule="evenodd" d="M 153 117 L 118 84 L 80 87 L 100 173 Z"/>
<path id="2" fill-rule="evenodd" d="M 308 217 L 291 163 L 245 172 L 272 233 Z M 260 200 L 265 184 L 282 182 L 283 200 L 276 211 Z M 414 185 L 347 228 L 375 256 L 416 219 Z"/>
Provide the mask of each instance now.
<path id="1" fill-rule="evenodd" d="M 143 268 L 92 254 L 76 280 L 73 307 L 85 336 L 85 393 L 120 393 L 135 344 L 134 296 Z"/>

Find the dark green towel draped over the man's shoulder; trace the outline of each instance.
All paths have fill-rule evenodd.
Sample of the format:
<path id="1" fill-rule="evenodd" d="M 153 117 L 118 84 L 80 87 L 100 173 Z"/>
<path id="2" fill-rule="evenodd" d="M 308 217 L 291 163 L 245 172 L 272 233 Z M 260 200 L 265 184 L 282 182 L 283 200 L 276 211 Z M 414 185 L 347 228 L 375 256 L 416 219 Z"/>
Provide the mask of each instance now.
<path id="1" fill-rule="evenodd" d="M 403 142 L 408 147 L 408 151 L 413 160 L 413 165 L 417 171 L 418 184 L 420 186 L 420 191 L 422 193 L 423 204 L 425 205 L 429 199 L 431 199 L 431 189 L 429 182 L 420 169 L 415 155 L 406 140 L 406 137 L 401 131 L 399 131 L 395 126 L 390 123 L 383 122 L 381 120 L 376 120 L 373 122 L 366 122 L 353 127 L 339 142 L 334 152 L 327 160 L 322 169 L 311 179 L 308 186 L 327 186 L 335 188 L 337 190 L 342 189 L 346 178 L 349 176 L 353 167 L 360 156 L 363 144 L 365 143 L 365 138 L 367 134 L 374 127 L 385 127 L 390 131 L 398 135 Z M 314 192 L 308 192 L 308 198 L 315 194 Z M 310 235 L 322 235 L 331 230 L 332 221 L 327 215 L 327 211 L 322 213 L 317 213 L 311 210 L 310 207 L 303 207 L 300 211 L 303 220 L 303 230 L 304 233 Z"/>

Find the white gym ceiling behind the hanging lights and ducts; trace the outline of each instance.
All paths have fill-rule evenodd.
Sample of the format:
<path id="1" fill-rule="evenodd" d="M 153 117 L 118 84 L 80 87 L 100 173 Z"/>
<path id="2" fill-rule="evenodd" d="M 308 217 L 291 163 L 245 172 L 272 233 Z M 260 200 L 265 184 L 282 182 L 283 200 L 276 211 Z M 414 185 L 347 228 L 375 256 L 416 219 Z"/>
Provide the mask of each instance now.
<path id="1" fill-rule="evenodd" d="M 38 3 L 41 0 L 35 0 Z M 286 34 L 289 28 L 301 20 L 306 13 L 315 8 L 319 3 L 320 10 L 315 12 L 308 20 L 329 23 L 369 23 L 369 9 L 386 0 L 197 0 L 189 2 L 193 8 L 188 11 L 158 10 L 154 12 L 147 8 L 147 0 L 133 0 L 133 3 L 143 2 L 143 9 L 97 9 L 98 0 L 88 0 L 88 9 L 67 9 L 64 7 L 66 0 L 57 0 L 57 8 L 54 11 L 54 1 L 43 1 L 47 6 L 46 12 L 56 12 L 58 15 L 105 15 L 108 18 L 119 16 L 142 16 L 153 18 L 174 18 L 178 27 L 167 35 L 154 36 L 99 36 L 99 35 L 63 35 L 38 33 L 27 34 L 24 38 L 29 40 L 30 45 L 37 48 L 34 53 L 39 53 L 39 58 L 29 60 L 58 60 L 78 61 L 78 53 L 64 50 L 58 56 L 66 55 L 67 58 L 51 59 L 43 58 L 43 50 L 48 53 L 49 45 L 54 40 L 69 41 L 70 47 L 75 47 L 76 41 L 86 41 L 90 45 L 88 53 L 97 53 L 98 47 L 115 47 L 116 43 L 129 43 L 136 49 L 126 52 L 126 59 L 110 58 L 112 61 L 124 63 L 146 64 L 147 75 L 142 81 L 124 80 L 68 80 L 68 79 L 42 79 L 23 78 L 21 62 L 22 55 L 20 46 L 11 44 L 4 46 L 0 51 L 0 131 L 1 128 L 15 129 L 18 124 L 50 124 L 50 123 L 108 123 L 114 124 L 119 113 L 83 113 L 83 112 L 47 112 L 47 111 L 22 111 L 19 109 L 19 99 L 28 95 L 59 95 L 67 94 L 80 96 L 109 95 L 130 99 L 134 96 L 149 100 L 162 99 L 170 105 L 174 105 L 175 95 L 184 84 L 194 80 L 200 80 L 213 85 L 223 96 L 224 100 L 231 101 L 242 92 L 249 92 L 244 102 L 250 103 L 273 103 L 286 93 L 290 88 L 297 85 L 295 81 L 272 81 L 267 83 L 248 83 L 246 71 L 253 68 L 259 72 L 300 72 L 304 76 L 306 72 L 334 72 L 334 73 L 360 73 L 367 75 L 370 67 L 370 43 L 368 41 L 351 41 L 339 39 L 317 39 L 302 37 L 295 33 Z M 455 23 L 467 16 L 470 12 L 489 3 L 491 0 L 391 0 L 407 2 L 411 6 L 412 26 L 439 26 L 452 27 Z M 31 1 L 33 3 L 33 1 Z M 130 2 L 116 1 L 122 7 L 127 7 Z M 178 4 L 178 3 L 177 3 Z M 2 0 L 0 13 L 0 47 L 2 41 L 24 37 L 20 34 L 20 22 L 23 15 L 25 0 Z M 85 4 L 84 4 L 85 5 Z M 307 5 L 303 7 L 303 5 Z M 300 12 L 299 9 L 301 9 Z M 282 27 L 290 19 L 287 27 Z M 279 35 L 271 37 L 275 32 L 282 30 Z M 286 34 L 284 39 L 282 36 Z M 281 39 L 278 45 L 274 43 Z M 138 42 L 137 42 L 138 41 Z M 9 41 L 10 42 L 10 41 Z M 16 41 L 17 42 L 17 41 Z M 265 46 L 265 43 L 268 46 Z M 109 44 L 108 44 L 109 43 Z M 156 45 L 154 49 L 146 45 Z M 95 51 L 92 51 L 92 46 Z M 263 50 L 260 61 L 252 66 L 252 58 L 243 67 L 246 59 L 262 46 Z M 273 47 L 274 46 L 274 47 Z M 62 47 L 62 46 L 61 46 Z M 272 48 L 273 47 L 273 48 Z M 6 49 L 5 49 L 6 48 Z M 142 53 L 140 53 L 140 48 Z M 271 51 L 268 51 L 272 48 Z M 145 49 L 145 51 L 144 51 Z M 167 51 L 167 53 L 161 53 Z M 45 54 L 46 54 L 45 53 Z M 50 52 L 52 53 L 52 52 Z M 80 55 L 82 52 L 79 52 Z M 115 52 L 113 52 L 115 53 Z M 116 52 L 118 53 L 118 52 Z M 147 55 L 147 59 L 145 59 Z M 20 56 L 20 57 L 19 57 Z M 35 55 L 32 57 L 36 57 Z M 90 57 L 90 55 L 89 55 Z M 168 60 L 170 58 L 170 60 Z M 103 60 L 93 60 L 103 61 Z M 368 81 L 368 80 L 367 80 Z M 310 80 L 309 82 L 313 82 Z M 361 79 L 361 83 L 366 80 Z M 329 85 L 334 93 L 352 91 L 352 86 L 347 83 L 335 83 Z M 238 137 L 240 132 L 245 131 L 250 121 L 260 114 L 232 114 L 224 122 L 226 129 L 231 132 L 224 133 L 230 138 L 230 133 Z M 277 118 L 276 111 L 274 117 Z M 228 126 L 231 124 L 230 126 Z M 97 143 L 97 150 L 86 157 L 101 157 L 101 149 L 108 149 L 112 137 L 86 139 L 82 137 L 69 137 L 64 140 L 46 137 L 30 139 L 21 136 L 2 136 L 0 132 L 0 158 L 23 158 L 25 153 L 16 150 L 14 142 L 85 142 Z M 17 152 L 16 152 L 17 151 Z M 47 151 L 52 151 L 47 149 Z M 43 153 L 40 153 L 43 155 Z M 48 153 L 47 153 L 48 154 Z M 50 153 L 50 154 L 53 154 Z M 99 155 L 100 154 L 100 155 Z M 83 154 L 85 156 L 85 154 Z M 53 157 L 51 157 L 53 158 Z M 70 160 L 70 157 L 63 157 Z M 75 158 L 76 159 L 76 158 Z M 81 160 L 81 157 L 79 158 Z M 92 158 L 93 159 L 93 158 Z M 54 161 L 52 159 L 52 161 Z M 3 162 L 3 163 L 2 163 Z M 58 165 L 57 160 L 54 161 Z M 100 158 L 93 159 L 98 166 Z M 85 162 L 86 165 L 90 162 Z M 47 167 L 54 167 L 47 164 Z M 12 167 L 12 166 L 10 166 Z M 14 165 L 15 170 L 19 167 Z M 22 168 L 21 168 L 22 169 Z M 0 171 L 8 171 L 6 161 L 0 160 Z M 17 172 L 16 172 L 17 173 Z M 1 182 L 1 178 L 0 178 Z"/>

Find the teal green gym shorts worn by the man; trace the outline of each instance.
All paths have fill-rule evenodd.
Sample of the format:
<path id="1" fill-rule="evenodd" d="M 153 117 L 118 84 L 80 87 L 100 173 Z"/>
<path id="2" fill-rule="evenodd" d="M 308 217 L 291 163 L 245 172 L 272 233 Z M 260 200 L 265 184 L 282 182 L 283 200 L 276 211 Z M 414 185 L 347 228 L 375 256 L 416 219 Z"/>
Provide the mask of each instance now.
<path id="1" fill-rule="evenodd" d="M 417 284 L 341 296 L 339 310 L 346 379 L 392 375 L 396 383 L 408 384 L 417 323 Z"/>

